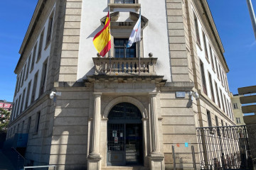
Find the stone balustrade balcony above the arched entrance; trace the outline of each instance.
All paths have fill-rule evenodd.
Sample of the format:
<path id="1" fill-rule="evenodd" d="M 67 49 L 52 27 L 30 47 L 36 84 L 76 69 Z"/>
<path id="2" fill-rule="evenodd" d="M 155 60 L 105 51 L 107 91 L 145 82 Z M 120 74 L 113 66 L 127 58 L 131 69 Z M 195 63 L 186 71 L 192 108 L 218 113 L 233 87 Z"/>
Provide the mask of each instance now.
<path id="1" fill-rule="evenodd" d="M 93 57 L 95 75 L 154 76 L 157 58 L 102 58 Z"/>

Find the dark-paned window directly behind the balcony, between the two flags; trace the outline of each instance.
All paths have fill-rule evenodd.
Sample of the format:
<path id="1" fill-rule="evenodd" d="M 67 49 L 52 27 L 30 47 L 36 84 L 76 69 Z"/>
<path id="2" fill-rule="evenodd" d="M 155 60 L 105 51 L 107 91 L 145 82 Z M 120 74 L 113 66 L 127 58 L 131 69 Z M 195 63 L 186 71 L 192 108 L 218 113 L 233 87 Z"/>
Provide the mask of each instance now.
<path id="1" fill-rule="evenodd" d="M 128 43 L 128 38 L 114 38 L 114 57 L 115 58 L 136 57 L 136 43 L 133 43 L 132 47 L 126 48 L 127 43 Z"/>

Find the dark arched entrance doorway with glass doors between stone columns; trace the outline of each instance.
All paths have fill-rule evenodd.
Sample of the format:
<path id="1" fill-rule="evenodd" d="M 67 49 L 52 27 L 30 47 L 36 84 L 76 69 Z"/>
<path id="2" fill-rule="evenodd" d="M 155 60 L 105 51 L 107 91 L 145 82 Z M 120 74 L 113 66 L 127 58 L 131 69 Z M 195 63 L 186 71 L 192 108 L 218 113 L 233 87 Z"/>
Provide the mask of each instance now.
<path id="1" fill-rule="evenodd" d="M 142 113 L 132 103 L 114 106 L 107 122 L 107 165 L 143 164 Z"/>

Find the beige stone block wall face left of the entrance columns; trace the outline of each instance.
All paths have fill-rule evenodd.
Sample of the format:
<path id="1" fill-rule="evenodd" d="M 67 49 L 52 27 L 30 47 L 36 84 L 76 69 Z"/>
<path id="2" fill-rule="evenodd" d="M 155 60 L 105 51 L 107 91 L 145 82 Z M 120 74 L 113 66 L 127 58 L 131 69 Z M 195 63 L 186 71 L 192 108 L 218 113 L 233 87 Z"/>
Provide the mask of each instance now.
<path id="1" fill-rule="evenodd" d="M 90 92 L 66 89 L 55 103 L 50 164 L 86 169 Z"/>

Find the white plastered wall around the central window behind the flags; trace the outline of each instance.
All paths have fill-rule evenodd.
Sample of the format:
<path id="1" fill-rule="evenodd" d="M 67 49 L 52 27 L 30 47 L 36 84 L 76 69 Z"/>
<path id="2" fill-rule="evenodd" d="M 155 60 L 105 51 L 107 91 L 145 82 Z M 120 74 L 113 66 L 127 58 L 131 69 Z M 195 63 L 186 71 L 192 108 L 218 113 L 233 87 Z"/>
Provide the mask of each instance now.
<path id="1" fill-rule="evenodd" d="M 154 57 L 158 58 L 157 74 L 164 75 L 164 79 L 171 81 L 165 1 L 147 0 L 139 1 L 139 3 L 142 6 L 142 16 L 149 19 L 148 26 L 143 30 L 144 57 L 149 57 L 149 52 L 152 52 Z M 97 57 L 97 51 L 92 39 L 102 29 L 100 19 L 107 15 L 107 11 L 107 1 L 105 0 L 82 2 L 78 81 L 82 81 L 86 75 L 94 73 L 92 57 Z M 135 12 L 134 8 L 114 8 L 114 11 L 120 13 L 118 21 L 129 21 L 129 11 Z"/>

